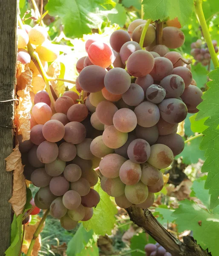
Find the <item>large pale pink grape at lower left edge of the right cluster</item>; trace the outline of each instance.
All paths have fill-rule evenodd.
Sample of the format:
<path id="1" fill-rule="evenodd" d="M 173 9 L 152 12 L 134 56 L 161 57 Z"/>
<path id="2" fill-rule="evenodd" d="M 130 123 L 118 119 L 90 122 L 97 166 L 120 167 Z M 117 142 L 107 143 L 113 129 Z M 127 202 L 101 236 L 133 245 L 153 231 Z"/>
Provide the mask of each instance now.
<path id="1" fill-rule="evenodd" d="M 120 156 L 119 154 L 108 154 L 101 159 L 99 170 L 104 177 L 119 177 L 119 169 L 125 161 L 126 158 Z"/>

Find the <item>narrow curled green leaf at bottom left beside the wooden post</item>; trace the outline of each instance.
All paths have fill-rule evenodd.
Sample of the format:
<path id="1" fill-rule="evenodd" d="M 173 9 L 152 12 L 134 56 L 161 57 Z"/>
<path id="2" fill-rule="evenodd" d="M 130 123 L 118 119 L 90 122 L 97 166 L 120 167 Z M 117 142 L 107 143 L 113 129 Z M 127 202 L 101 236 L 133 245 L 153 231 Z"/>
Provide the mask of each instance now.
<path id="1" fill-rule="evenodd" d="M 11 245 L 5 252 L 6 256 L 15 256 L 20 249 L 22 235 L 22 218 L 23 214 L 20 214 L 18 216 L 14 214 L 11 231 Z"/>

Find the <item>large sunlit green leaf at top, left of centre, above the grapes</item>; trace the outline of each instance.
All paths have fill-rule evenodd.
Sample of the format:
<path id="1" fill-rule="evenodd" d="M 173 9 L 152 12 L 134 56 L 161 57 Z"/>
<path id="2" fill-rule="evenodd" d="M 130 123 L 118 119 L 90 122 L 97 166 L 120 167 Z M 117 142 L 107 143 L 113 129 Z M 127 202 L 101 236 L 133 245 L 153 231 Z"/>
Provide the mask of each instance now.
<path id="1" fill-rule="evenodd" d="M 61 18 L 65 35 L 81 38 L 100 27 L 107 14 L 115 13 L 113 7 L 113 0 L 49 0 L 45 9 L 49 15 Z"/>

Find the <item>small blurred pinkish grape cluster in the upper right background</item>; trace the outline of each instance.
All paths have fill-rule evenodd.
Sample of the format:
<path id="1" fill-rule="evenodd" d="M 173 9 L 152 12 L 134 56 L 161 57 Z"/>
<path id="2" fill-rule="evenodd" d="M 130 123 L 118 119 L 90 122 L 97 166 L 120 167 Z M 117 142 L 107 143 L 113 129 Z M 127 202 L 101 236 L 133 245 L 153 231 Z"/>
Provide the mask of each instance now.
<path id="1" fill-rule="evenodd" d="M 215 52 L 218 52 L 217 41 L 212 40 L 212 44 Z M 207 66 L 210 63 L 210 53 L 207 48 L 207 44 L 204 43 L 201 39 L 198 39 L 196 42 L 191 44 L 191 55 L 198 62 L 201 62 L 203 66 Z"/>

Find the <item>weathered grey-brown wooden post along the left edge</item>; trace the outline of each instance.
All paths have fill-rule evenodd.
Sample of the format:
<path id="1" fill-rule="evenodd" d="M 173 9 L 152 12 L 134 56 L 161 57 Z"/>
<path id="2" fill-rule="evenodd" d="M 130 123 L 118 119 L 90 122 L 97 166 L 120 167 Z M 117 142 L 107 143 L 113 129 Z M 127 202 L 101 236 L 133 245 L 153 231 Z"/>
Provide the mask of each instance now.
<path id="1" fill-rule="evenodd" d="M 6 172 L 5 158 L 12 153 L 14 126 L 14 85 L 17 61 L 17 0 L 0 3 L 0 256 L 10 246 L 12 172 Z"/>

